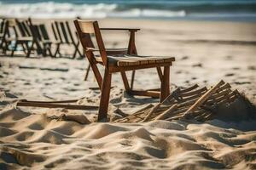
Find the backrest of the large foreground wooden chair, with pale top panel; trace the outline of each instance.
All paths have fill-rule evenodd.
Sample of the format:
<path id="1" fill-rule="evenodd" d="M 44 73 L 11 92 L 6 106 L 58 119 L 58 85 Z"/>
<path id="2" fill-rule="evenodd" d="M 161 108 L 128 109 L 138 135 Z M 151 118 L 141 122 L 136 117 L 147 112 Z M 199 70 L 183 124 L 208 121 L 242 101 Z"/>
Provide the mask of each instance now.
<path id="1" fill-rule="evenodd" d="M 91 41 L 91 35 L 96 37 L 96 43 L 99 48 L 103 65 L 108 65 L 108 58 L 104 42 L 102 40 L 102 34 L 97 21 L 87 21 L 87 20 L 74 20 L 74 25 L 78 31 L 80 42 L 84 48 L 86 56 L 93 55 L 90 48 L 95 48 L 93 42 Z"/>

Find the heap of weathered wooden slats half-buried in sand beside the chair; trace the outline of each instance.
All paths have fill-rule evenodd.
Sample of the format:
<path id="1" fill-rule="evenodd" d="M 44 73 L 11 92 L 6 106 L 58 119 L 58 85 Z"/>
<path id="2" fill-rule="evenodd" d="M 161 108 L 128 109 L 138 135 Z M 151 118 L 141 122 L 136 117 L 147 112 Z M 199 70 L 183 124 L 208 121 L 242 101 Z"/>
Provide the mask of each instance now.
<path id="1" fill-rule="evenodd" d="M 195 119 L 199 122 L 211 120 L 219 105 L 230 105 L 241 94 L 232 91 L 229 83 L 218 82 L 207 89 L 197 84 L 189 88 L 177 88 L 163 102 L 148 105 L 143 110 L 114 122 L 148 122 L 153 120 L 172 121 L 177 119 Z"/>

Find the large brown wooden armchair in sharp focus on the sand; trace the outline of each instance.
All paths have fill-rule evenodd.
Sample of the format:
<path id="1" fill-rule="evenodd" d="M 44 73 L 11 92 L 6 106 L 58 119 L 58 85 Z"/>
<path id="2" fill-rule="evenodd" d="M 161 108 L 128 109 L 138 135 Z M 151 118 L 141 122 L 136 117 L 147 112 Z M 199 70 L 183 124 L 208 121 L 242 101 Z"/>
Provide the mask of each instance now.
<path id="1" fill-rule="evenodd" d="M 170 66 L 175 60 L 174 57 L 158 57 L 158 56 L 139 56 L 135 54 L 108 54 L 102 40 L 102 34 L 97 21 L 74 20 L 74 24 L 79 34 L 80 42 L 84 48 L 84 53 L 90 62 L 92 71 L 95 74 L 96 81 L 102 90 L 100 107 L 98 111 L 98 121 L 104 120 L 108 116 L 108 102 L 111 88 L 112 73 L 120 72 L 122 80 L 125 85 L 125 90 L 128 94 L 143 95 L 151 97 L 160 97 L 160 101 L 166 99 L 170 94 Z M 115 30 L 115 29 L 113 29 Z M 125 29 L 129 30 L 129 29 Z M 132 29 L 130 29 L 132 30 Z M 134 29 L 137 31 L 137 29 Z M 98 49 L 95 48 L 91 35 L 96 37 L 96 44 Z M 132 41 L 130 39 L 130 41 Z M 129 43 L 130 46 L 131 43 Z M 99 51 L 100 55 L 96 56 L 95 51 Z M 134 50 L 128 47 L 128 51 Z M 97 64 L 105 67 L 104 77 L 97 68 Z M 147 68 L 160 68 L 164 67 L 164 72 L 158 69 L 160 75 L 160 92 L 148 90 L 133 90 L 130 88 L 125 71 L 135 71 Z"/>

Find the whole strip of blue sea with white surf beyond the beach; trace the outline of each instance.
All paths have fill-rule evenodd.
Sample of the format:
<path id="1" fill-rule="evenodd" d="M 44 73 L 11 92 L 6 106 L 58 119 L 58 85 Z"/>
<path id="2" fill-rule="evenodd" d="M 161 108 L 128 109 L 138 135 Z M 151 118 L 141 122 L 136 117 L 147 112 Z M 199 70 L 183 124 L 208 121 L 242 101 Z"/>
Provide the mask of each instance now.
<path id="1" fill-rule="evenodd" d="M 0 0 L 0 16 L 256 21 L 256 0 Z"/>

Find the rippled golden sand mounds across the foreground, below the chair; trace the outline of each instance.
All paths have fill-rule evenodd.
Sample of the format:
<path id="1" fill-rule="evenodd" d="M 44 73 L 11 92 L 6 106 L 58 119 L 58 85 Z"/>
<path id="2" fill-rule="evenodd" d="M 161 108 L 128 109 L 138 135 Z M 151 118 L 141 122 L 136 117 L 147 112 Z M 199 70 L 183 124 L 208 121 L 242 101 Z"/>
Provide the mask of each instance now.
<path id="1" fill-rule="evenodd" d="M 0 127 L 2 168 L 255 168 L 255 131 L 207 123 L 84 126 L 10 107 L 1 111 Z"/>

